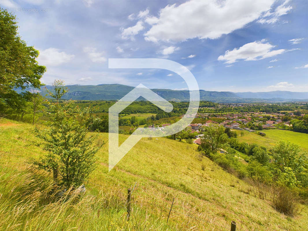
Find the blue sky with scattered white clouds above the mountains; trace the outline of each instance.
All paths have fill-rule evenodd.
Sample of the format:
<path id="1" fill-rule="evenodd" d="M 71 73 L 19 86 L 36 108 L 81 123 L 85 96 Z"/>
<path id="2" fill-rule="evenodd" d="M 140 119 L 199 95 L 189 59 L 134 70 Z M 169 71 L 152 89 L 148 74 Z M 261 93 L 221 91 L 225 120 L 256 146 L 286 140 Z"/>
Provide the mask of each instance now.
<path id="1" fill-rule="evenodd" d="M 108 69 L 109 58 L 169 59 L 207 91 L 308 91 L 308 1 L 1 0 L 40 51 L 45 84 L 187 89 L 161 69 Z"/>

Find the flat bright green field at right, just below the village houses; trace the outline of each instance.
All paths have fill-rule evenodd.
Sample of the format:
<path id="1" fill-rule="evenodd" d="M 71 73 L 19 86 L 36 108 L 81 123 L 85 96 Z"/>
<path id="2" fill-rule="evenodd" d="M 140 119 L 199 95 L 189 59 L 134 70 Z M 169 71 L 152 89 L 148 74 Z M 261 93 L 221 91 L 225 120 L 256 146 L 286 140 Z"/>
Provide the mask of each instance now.
<path id="1" fill-rule="evenodd" d="M 260 136 L 256 132 L 244 131 L 244 136 L 241 136 L 241 131 L 234 130 L 237 132 L 237 139 L 246 142 L 248 144 L 256 143 L 258 145 L 271 148 L 279 140 L 289 140 L 291 143 L 298 144 L 303 151 L 308 152 L 308 134 L 293 132 L 288 130 L 269 129 L 262 130 L 266 136 Z"/>

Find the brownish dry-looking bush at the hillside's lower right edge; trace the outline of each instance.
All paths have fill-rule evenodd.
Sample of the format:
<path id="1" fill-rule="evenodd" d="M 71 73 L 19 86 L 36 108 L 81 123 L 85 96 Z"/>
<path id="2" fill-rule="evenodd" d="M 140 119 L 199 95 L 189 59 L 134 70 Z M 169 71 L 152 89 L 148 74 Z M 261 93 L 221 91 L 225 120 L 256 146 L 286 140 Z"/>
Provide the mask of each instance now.
<path id="1" fill-rule="evenodd" d="M 274 209 L 280 213 L 284 213 L 289 216 L 294 216 L 298 213 L 298 195 L 289 188 L 274 188 L 272 190 L 271 203 Z"/>

